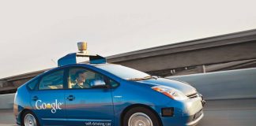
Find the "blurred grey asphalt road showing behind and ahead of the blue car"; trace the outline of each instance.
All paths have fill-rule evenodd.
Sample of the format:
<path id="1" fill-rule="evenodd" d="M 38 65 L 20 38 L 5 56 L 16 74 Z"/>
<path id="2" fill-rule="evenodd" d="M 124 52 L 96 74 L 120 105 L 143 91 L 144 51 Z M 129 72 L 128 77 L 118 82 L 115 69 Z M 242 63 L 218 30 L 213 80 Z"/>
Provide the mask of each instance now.
<path id="1" fill-rule="evenodd" d="M 198 126 L 254 126 L 256 98 L 207 101 L 204 113 Z M 15 125 L 13 118 L 12 109 L 0 109 L 0 126 Z"/>

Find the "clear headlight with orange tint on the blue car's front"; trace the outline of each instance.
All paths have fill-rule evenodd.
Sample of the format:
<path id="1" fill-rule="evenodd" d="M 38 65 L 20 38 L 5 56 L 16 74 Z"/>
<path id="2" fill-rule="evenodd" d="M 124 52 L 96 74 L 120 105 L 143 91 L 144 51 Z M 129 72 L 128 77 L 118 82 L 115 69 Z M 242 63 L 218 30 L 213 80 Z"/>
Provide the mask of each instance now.
<path id="1" fill-rule="evenodd" d="M 164 95 L 168 96 L 169 98 L 175 99 L 175 100 L 185 100 L 187 99 L 186 95 L 183 94 L 183 92 L 178 91 L 171 87 L 166 86 L 155 86 L 151 87 L 154 91 L 158 91 L 160 93 L 163 93 Z"/>

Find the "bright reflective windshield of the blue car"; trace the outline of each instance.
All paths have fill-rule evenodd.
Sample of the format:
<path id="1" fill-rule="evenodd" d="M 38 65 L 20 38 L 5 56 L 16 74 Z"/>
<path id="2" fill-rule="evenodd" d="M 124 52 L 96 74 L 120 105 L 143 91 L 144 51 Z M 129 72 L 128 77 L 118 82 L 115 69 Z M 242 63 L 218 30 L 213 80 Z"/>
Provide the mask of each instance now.
<path id="1" fill-rule="evenodd" d="M 115 76 L 119 76 L 125 80 L 146 80 L 152 78 L 145 72 L 131 69 L 122 65 L 96 65 L 99 69 L 104 69 L 107 72 L 111 72 Z"/>

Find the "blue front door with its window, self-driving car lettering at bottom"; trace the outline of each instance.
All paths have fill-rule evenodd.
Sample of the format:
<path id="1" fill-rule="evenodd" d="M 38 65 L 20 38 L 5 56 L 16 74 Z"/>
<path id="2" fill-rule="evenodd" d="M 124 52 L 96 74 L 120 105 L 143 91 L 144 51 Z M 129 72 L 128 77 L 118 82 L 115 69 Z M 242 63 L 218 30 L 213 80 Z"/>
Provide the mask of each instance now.
<path id="1" fill-rule="evenodd" d="M 70 68 L 66 90 L 66 117 L 69 124 L 85 126 L 114 125 L 111 89 L 93 87 L 104 76 L 85 68 Z"/>

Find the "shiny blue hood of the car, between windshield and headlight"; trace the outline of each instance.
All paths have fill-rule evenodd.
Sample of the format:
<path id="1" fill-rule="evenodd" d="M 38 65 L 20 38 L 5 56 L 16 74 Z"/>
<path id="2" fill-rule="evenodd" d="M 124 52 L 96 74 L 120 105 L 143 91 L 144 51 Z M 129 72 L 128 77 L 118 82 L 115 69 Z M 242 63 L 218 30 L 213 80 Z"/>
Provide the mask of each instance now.
<path id="1" fill-rule="evenodd" d="M 190 84 L 184 83 L 179 80 L 157 78 L 156 80 L 155 79 L 141 80 L 141 81 L 137 81 L 137 83 L 145 83 L 145 84 L 149 84 L 152 86 L 163 85 L 163 86 L 172 87 L 179 91 L 182 91 L 184 95 L 191 95 L 191 94 L 194 94 L 197 92 L 197 90 L 194 87 L 190 86 Z"/>

